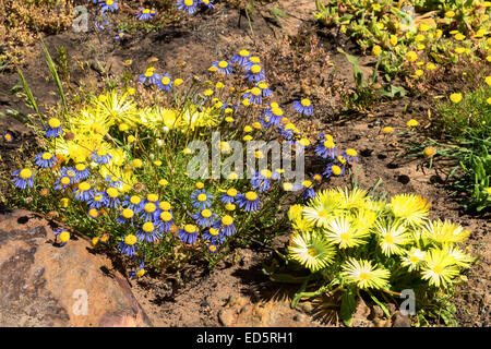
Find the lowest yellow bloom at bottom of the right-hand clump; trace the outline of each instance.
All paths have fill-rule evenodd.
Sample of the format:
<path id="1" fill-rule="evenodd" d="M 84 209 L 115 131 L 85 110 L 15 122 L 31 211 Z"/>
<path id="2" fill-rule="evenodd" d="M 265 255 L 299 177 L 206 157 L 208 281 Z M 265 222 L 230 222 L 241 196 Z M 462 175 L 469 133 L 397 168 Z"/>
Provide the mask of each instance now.
<path id="1" fill-rule="evenodd" d="M 372 266 L 371 261 L 349 257 L 343 265 L 342 276 L 360 289 L 383 289 L 387 287 L 391 273 L 385 268 Z"/>

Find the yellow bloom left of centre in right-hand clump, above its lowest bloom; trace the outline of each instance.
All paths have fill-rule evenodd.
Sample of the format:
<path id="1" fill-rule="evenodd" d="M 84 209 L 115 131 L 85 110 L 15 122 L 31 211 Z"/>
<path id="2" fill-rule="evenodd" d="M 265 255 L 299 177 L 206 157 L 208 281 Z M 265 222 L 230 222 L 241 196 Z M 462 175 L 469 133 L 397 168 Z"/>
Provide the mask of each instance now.
<path id="1" fill-rule="evenodd" d="M 367 238 L 369 232 L 366 229 L 359 229 L 352 216 L 339 216 L 330 220 L 324 236 L 327 241 L 337 244 L 339 249 L 347 249 L 367 243 L 363 238 Z"/>

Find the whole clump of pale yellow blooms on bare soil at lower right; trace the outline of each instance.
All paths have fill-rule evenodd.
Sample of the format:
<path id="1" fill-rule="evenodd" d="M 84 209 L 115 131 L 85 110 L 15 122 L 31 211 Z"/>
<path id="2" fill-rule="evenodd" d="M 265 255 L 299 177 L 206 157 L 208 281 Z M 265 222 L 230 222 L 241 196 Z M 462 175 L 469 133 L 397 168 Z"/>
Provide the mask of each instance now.
<path id="1" fill-rule="evenodd" d="M 326 285 L 336 290 L 445 289 L 474 262 L 459 246 L 470 231 L 429 214 L 430 204 L 415 194 L 385 201 L 357 188 L 325 190 L 290 207 L 288 256 L 311 273 L 328 272 Z"/>

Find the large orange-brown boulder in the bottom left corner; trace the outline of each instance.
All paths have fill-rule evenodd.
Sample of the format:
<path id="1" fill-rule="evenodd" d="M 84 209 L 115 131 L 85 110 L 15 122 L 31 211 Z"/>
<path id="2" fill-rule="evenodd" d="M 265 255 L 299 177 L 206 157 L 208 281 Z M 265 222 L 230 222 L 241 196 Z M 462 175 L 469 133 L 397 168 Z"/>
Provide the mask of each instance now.
<path id="1" fill-rule="evenodd" d="M 37 214 L 0 210 L 0 326 L 151 326 L 125 278 L 72 233 L 53 243 Z"/>

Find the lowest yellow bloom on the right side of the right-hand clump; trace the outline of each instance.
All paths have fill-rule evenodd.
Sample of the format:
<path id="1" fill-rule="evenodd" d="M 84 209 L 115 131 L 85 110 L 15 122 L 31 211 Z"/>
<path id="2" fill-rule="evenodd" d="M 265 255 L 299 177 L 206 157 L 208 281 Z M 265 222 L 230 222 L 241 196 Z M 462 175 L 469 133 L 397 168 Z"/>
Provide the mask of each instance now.
<path id="1" fill-rule="evenodd" d="M 458 267 L 454 258 L 446 251 L 433 249 L 424 255 L 421 277 L 431 286 L 446 287 L 458 275 Z"/>

